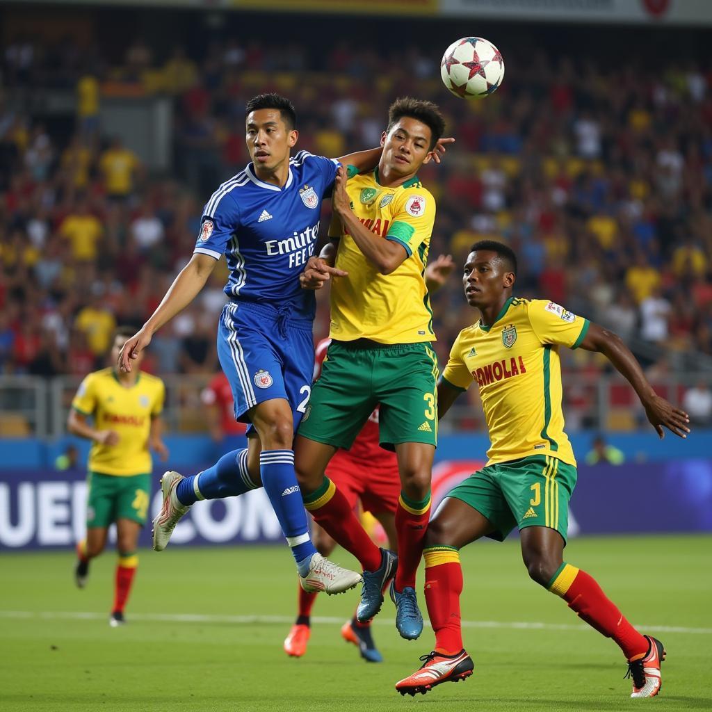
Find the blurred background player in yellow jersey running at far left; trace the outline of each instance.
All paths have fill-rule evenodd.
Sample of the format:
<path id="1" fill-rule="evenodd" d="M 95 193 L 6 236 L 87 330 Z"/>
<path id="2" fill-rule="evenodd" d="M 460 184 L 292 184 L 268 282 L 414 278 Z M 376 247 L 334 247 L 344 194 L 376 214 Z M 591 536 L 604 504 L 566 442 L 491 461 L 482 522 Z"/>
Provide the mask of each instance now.
<path id="1" fill-rule="evenodd" d="M 133 328 L 116 330 L 112 363 L 133 333 Z M 142 355 L 135 366 L 140 366 Z M 93 441 L 88 462 L 87 537 L 77 545 L 75 581 L 80 588 L 86 585 L 89 562 L 102 553 L 109 526 L 115 523 L 119 560 L 109 619 L 112 627 L 125 622 L 124 606 L 138 565 L 138 536 L 146 523 L 151 493 L 150 449 L 162 460 L 168 457 L 161 439 L 163 382 L 137 367 L 130 372 L 114 367 L 90 373 L 72 401 L 67 423 L 71 433 Z"/>

